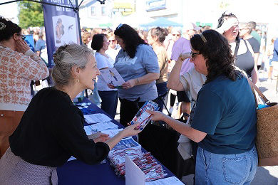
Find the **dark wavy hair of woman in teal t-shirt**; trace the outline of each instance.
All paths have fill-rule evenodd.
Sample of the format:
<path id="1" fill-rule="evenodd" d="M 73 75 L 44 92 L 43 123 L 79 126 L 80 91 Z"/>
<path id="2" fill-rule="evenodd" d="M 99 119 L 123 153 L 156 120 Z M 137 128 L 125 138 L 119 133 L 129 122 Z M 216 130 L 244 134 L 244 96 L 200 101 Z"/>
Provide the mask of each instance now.
<path id="1" fill-rule="evenodd" d="M 204 42 L 200 34 L 195 34 L 190 38 L 192 48 L 204 56 L 207 65 L 207 80 L 205 83 L 225 75 L 230 80 L 235 81 L 237 73 L 234 68 L 234 57 L 230 44 L 224 36 L 214 30 L 202 32 L 207 42 Z"/>

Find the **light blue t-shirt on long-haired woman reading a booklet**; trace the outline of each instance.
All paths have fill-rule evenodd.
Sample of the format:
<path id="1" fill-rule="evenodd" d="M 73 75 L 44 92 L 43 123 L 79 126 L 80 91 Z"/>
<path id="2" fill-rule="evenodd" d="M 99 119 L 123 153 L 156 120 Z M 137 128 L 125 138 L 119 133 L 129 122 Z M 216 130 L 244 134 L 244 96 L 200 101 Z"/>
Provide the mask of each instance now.
<path id="1" fill-rule="evenodd" d="M 134 58 L 130 58 L 128 53 L 121 49 L 116 57 L 114 67 L 125 82 L 148 73 L 160 72 L 158 57 L 153 48 L 145 44 L 137 46 Z M 151 83 L 135 85 L 130 89 L 118 89 L 118 96 L 130 101 L 136 100 L 138 97 L 140 97 L 140 102 L 155 100 L 158 97 L 155 80 Z"/>

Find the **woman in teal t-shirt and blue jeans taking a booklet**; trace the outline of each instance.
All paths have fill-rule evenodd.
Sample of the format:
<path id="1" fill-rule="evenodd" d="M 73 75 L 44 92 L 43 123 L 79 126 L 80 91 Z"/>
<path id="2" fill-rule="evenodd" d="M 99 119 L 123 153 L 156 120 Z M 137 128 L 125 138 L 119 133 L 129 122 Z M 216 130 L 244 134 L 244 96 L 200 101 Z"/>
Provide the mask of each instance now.
<path id="1" fill-rule="evenodd" d="M 233 67 L 227 40 L 207 30 L 190 38 L 191 62 L 207 76 L 197 95 L 191 127 L 161 112 L 150 113 L 198 142 L 195 184 L 250 184 L 257 171 L 256 103 L 248 81 Z M 190 54 L 182 54 L 175 68 Z"/>

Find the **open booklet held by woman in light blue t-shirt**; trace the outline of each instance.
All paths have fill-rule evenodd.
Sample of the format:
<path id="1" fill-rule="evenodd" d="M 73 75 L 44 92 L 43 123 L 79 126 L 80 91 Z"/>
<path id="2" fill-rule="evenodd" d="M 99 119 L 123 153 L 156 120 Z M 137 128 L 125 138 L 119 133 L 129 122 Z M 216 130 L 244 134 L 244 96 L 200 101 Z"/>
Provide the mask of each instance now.
<path id="1" fill-rule="evenodd" d="M 115 68 L 101 70 L 101 76 L 105 80 L 105 83 L 114 85 L 115 88 L 122 88 L 123 83 L 125 83 L 125 80 L 123 80 Z"/>

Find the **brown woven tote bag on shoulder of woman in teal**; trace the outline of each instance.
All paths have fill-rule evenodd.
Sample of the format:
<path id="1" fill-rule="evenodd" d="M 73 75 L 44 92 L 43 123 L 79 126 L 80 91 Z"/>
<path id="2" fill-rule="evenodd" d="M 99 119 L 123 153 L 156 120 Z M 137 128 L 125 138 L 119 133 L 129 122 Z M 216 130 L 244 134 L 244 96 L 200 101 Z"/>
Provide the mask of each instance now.
<path id="1" fill-rule="evenodd" d="M 249 79 L 250 87 L 257 91 L 264 103 L 269 107 L 257 109 L 257 137 L 256 147 L 259 158 L 259 166 L 278 165 L 278 104 L 269 102 L 262 92 Z M 255 97 L 255 95 L 254 95 Z M 256 103 L 257 99 L 255 97 Z"/>

